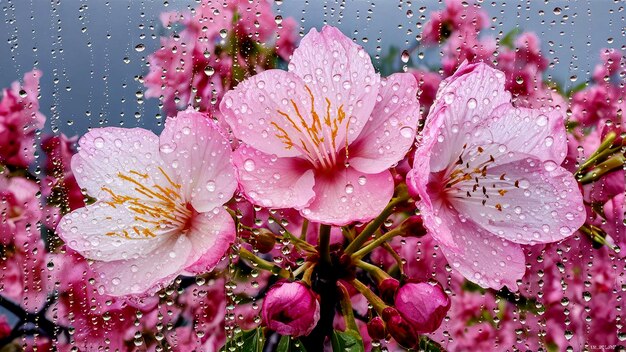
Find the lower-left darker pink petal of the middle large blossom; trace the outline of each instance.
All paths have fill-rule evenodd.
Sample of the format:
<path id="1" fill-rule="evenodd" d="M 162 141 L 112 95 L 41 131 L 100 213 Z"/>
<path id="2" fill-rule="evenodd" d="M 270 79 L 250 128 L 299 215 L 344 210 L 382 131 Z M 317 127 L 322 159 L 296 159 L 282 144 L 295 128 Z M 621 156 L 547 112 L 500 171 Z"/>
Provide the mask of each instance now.
<path id="1" fill-rule="evenodd" d="M 304 159 L 278 158 L 241 145 L 233 163 L 244 194 L 254 204 L 300 209 L 315 196 L 313 170 Z"/>

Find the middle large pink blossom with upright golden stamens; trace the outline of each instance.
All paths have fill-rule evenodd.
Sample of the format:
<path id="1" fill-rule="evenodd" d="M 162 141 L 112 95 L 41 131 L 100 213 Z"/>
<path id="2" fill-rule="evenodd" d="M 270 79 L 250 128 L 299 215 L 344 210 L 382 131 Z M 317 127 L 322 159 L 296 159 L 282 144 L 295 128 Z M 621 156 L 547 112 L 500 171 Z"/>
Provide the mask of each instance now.
<path id="1" fill-rule="evenodd" d="M 243 141 L 233 159 L 245 195 L 326 224 L 372 219 L 393 194 L 388 169 L 413 143 L 416 92 L 408 73 L 381 82 L 363 48 L 338 29 L 312 29 L 288 72 L 257 74 L 222 100 Z"/>

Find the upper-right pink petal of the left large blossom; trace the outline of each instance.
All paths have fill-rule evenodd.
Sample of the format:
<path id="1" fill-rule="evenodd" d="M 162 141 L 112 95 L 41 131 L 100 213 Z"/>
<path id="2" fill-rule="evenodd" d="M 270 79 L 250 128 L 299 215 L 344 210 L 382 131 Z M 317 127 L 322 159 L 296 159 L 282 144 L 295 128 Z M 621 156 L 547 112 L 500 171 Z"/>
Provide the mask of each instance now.
<path id="1" fill-rule="evenodd" d="M 186 200 L 198 212 L 226 203 L 235 192 L 235 168 L 228 139 L 209 116 L 186 110 L 168 118 L 159 137 L 168 174 L 183 185 Z"/>

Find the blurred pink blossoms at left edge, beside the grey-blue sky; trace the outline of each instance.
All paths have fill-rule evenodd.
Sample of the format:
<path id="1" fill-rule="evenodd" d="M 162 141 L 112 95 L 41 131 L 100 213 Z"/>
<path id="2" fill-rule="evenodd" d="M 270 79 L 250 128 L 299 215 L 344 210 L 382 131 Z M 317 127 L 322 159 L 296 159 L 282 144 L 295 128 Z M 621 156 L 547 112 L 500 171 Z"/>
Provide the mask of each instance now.
<path id="1" fill-rule="evenodd" d="M 27 167 L 35 159 L 35 131 L 43 128 L 39 112 L 41 71 L 24 74 L 24 84 L 14 82 L 0 100 L 0 164 Z"/>

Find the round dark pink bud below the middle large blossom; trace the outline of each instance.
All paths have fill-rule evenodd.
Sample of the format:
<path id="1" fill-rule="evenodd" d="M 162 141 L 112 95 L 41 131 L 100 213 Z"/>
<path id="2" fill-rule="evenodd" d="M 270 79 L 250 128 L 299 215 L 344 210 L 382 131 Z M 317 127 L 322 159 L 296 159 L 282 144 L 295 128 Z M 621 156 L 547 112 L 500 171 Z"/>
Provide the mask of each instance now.
<path id="1" fill-rule="evenodd" d="M 320 304 L 302 282 L 278 282 L 267 292 L 261 316 L 268 328 L 281 335 L 308 335 L 320 319 Z"/>

